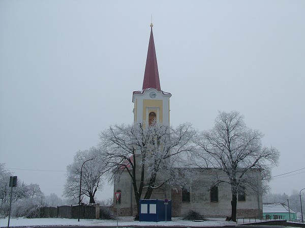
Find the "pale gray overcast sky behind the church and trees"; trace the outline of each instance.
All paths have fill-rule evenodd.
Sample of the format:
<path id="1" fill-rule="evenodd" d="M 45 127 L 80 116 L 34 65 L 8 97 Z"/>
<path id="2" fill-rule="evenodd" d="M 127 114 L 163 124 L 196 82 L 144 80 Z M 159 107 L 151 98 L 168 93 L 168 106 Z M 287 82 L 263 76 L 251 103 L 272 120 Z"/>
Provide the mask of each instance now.
<path id="1" fill-rule="evenodd" d="M 62 196 L 76 151 L 132 123 L 153 14 L 171 125 L 207 130 L 218 110 L 237 110 L 281 151 L 272 175 L 302 169 L 304 12 L 302 0 L 0 0 L 0 163 Z M 271 191 L 299 191 L 304 174 L 273 179 Z"/>

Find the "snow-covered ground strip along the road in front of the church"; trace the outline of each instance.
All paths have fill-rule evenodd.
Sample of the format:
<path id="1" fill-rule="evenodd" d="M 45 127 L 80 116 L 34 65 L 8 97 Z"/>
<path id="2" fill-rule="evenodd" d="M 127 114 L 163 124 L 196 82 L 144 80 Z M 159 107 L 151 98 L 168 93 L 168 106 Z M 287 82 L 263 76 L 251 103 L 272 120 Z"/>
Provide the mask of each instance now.
<path id="1" fill-rule="evenodd" d="M 134 221 L 133 217 L 119 217 L 118 226 L 223 226 L 235 225 L 235 222 L 222 218 L 210 218 L 208 221 L 186 221 L 172 217 L 171 221 L 144 222 Z M 8 218 L 0 219 L 0 227 L 7 227 Z M 86 225 L 86 226 L 116 226 L 116 220 L 98 219 L 68 219 L 68 218 L 11 218 L 10 226 L 39 226 L 39 225 Z"/>

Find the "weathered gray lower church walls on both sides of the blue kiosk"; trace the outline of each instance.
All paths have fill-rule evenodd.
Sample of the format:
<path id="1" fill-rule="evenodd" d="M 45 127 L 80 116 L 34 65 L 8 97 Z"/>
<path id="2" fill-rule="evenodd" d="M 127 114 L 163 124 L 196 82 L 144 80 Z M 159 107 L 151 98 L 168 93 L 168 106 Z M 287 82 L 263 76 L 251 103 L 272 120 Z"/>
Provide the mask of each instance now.
<path id="1" fill-rule="evenodd" d="M 226 217 L 231 215 L 231 186 L 226 182 L 218 184 L 218 202 L 210 202 L 210 187 L 216 182 L 216 169 L 194 172 L 189 183 L 190 202 L 182 202 L 182 191 L 173 191 L 170 186 L 164 185 L 163 188 L 154 189 L 150 199 L 169 199 L 172 202 L 172 216 L 184 216 L 189 210 L 195 210 L 205 217 Z M 259 174 L 259 171 L 256 170 Z M 218 173 L 219 176 L 225 175 Z M 258 189 L 261 187 L 259 175 L 253 175 L 253 182 L 258 181 Z M 160 180 L 160 179 L 159 179 Z M 224 179 L 223 179 L 224 180 Z M 138 180 L 139 181 L 139 180 Z M 138 182 L 139 183 L 139 182 Z M 122 198 L 119 204 L 119 215 L 135 216 L 137 206 L 131 184 L 131 178 L 124 172 L 119 184 L 114 183 L 114 191 L 121 190 Z M 143 189 L 142 198 L 146 189 Z M 261 190 L 255 191 L 250 187 L 245 189 L 246 200 L 237 202 L 237 217 L 258 217 L 262 216 L 262 194 Z M 116 202 L 114 198 L 114 202 Z M 114 205 L 114 208 L 116 205 Z"/>

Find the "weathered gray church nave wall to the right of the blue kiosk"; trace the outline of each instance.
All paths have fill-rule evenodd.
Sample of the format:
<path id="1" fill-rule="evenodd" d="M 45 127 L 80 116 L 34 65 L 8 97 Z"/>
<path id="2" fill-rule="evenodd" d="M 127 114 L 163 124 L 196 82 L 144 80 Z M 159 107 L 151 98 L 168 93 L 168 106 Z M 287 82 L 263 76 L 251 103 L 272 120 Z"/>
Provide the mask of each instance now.
<path id="1" fill-rule="evenodd" d="M 210 202 L 210 187 L 216 182 L 215 170 L 198 172 L 189 185 L 190 202 L 182 202 L 182 191 L 172 192 L 172 215 L 184 216 L 189 210 L 205 217 L 226 217 L 231 215 L 231 186 L 226 182 L 218 184 L 218 202 Z M 223 175 L 222 175 L 223 176 Z M 258 177 L 258 175 L 254 175 Z M 256 180 L 253 180 L 256 181 Z M 260 181 L 258 181 L 260 183 Z M 259 188 L 260 189 L 260 184 Z M 237 217 L 262 216 L 261 191 L 246 188 L 246 201 L 237 202 Z"/>

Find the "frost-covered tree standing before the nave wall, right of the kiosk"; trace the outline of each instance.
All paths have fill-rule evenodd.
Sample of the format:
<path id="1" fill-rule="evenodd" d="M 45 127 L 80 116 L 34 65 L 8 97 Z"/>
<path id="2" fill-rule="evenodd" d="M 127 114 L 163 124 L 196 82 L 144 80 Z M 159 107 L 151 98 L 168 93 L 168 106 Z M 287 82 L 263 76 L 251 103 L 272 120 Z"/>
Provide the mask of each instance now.
<path id="1" fill-rule="evenodd" d="M 194 141 L 199 147 L 197 158 L 200 163 L 196 164 L 202 168 L 217 168 L 226 174 L 217 176 L 215 185 L 220 182 L 231 185 L 233 221 L 236 221 L 237 194 L 241 187 L 261 191 L 259 184 L 253 181 L 253 175 L 259 171 L 261 178 L 267 180 L 270 168 L 278 164 L 279 151 L 272 146 L 263 146 L 262 137 L 260 131 L 246 126 L 239 112 L 220 111 L 214 128 L 202 132 Z"/>

